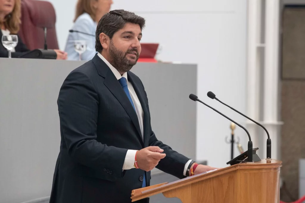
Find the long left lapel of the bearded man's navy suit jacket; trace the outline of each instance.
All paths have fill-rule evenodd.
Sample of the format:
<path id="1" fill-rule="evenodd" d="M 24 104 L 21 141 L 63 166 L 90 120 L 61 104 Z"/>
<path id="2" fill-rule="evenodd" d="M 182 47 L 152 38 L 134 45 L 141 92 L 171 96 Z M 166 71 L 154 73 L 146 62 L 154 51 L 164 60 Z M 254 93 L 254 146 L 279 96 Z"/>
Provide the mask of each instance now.
<path id="1" fill-rule="evenodd" d="M 92 59 L 95 67 L 98 70 L 100 76 L 104 77 L 104 84 L 109 89 L 109 91 L 117 98 L 120 104 L 123 106 L 125 111 L 127 112 L 128 116 L 130 117 L 132 123 L 135 125 L 135 128 L 138 131 L 138 138 L 142 140 L 142 134 L 140 130 L 140 124 L 138 120 L 137 113 L 135 109 L 132 107 L 126 93 L 124 92 L 122 86 L 120 85 L 117 78 L 114 76 L 110 68 L 103 62 L 99 56 L 95 55 Z"/>

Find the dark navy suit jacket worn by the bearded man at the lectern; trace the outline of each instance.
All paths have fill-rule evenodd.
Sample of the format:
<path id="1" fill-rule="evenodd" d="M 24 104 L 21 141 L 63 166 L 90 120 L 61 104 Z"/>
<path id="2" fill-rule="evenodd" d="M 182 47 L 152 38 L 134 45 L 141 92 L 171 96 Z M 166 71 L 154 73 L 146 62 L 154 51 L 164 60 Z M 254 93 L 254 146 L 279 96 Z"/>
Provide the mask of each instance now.
<path id="1" fill-rule="evenodd" d="M 127 75 L 144 111 L 144 142 L 135 110 L 99 56 L 73 70 L 63 82 L 57 100 L 61 143 L 51 203 L 131 202 L 131 191 L 141 188 L 146 172 L 122 171 L 128 149 L 159 146 L 167 156 L 156 168 L 184 178 L 189 159 L 157 140 L 143 84 L 130 71 Z M 146 177 L 149 186 L 150 172 Z"/>

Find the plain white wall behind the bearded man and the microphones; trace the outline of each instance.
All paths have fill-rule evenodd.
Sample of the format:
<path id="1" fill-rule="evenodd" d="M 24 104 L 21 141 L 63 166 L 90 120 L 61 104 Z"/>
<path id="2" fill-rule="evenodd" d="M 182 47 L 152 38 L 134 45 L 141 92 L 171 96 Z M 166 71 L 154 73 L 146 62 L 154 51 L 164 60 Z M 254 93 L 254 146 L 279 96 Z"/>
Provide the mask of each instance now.
<path id="1" fill-rule="evenodd" d="M 246 1 L 113 1 L 112 9 L 130 10 L 145 17 L 143 42 L 162 45 L 159 59 L 198 64 L 196 94 L 199 98 L 245 124 L 245 119 L 210 100 L 206 93 L 213 91 L 223 102 L 246 112 Z M 73 24 L 76 0 L 50 2 L 56 9 L 59 46 L 63 49 Z M 208 160 L 212 166 L 226 166 L 225 162 L 230 160 L 230 144 L 224 139 L 230 136 L 231 122 L 201 104 L 197 115 L 196 158 Z M 246 150 L 246 133 L 237 128 L 236 135 Z M 234 150 L 237 155 L 237 148 Z"/>

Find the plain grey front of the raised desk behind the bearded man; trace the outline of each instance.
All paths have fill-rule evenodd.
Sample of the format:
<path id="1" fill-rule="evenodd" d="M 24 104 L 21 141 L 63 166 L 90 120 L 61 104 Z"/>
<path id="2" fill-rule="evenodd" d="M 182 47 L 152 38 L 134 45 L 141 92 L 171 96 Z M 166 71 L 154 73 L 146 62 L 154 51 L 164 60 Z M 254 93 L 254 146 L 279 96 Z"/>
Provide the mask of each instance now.
<path id="1" fill-rule="evenodd" d="M 0 58 L 0 202 L 50 195 L 59 152 L 57 110 L 66 76 L 84 62 Z M 197 66 L 138 63 L 157 138 L 196 158 Z M 154 170 L 153 173 L 157 171 Z"/>

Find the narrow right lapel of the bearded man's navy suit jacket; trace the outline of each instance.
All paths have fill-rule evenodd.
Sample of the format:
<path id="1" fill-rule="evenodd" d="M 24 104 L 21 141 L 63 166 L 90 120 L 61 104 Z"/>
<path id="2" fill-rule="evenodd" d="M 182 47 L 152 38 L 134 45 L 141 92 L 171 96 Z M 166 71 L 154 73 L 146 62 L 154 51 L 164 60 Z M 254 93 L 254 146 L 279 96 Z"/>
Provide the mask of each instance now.
<path id="1" fill-rule="evenodd" d="M 138 96 L 138 99 L 141 103 L 144 115 L 143 115 L 143 142 L 145 143 L 147 138 L 147 130 L 149 130 L 149 121 L 148 121 L 148 110 L 146 108 L 146 100 L 147 98 L 145 98 L 145 94 L 144 92 L 141 92 L 141 89 L 139 88 L 138 84 L 135 82 L 134 77 L 132 77 L 132 74 L 129 73 L 129 71 L 127 72 L 127 78 L 128 81 L 132 84 L 133 88 L 135 89 L 135 93 Z M 144 144 L 145 146 L 145 144 Z"/>

